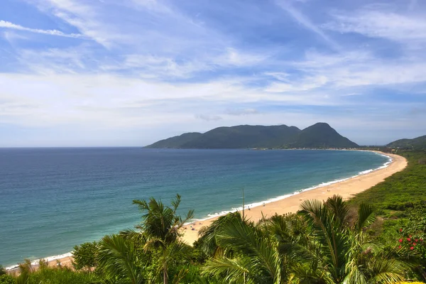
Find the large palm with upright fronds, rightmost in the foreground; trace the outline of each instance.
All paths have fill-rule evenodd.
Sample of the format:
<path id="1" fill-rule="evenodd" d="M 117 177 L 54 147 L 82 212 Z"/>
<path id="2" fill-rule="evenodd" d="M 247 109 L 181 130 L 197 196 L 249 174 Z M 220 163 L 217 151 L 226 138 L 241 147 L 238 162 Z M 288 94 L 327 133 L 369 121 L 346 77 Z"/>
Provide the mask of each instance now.
<path id="1" fill-rule="evenodd" d="M 293 250 L 293 256 L 300 258 L 293 267 L 297 282 L 395 283 L 410 269 L 409 263 L 395 258 L 396 251 L 381 250 L 364 234 L 375 220 L 371 206 L 359 205 L 353 225 L 349 224 L 349 207 L 342 197 L 334 195 L 324 203 L 306 200 L 300 207 L 310 237 L 307 244 Z"/>

